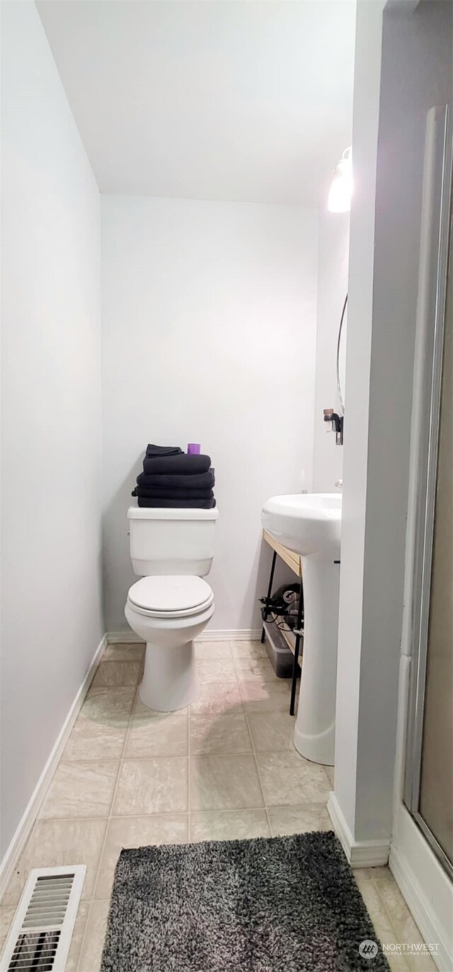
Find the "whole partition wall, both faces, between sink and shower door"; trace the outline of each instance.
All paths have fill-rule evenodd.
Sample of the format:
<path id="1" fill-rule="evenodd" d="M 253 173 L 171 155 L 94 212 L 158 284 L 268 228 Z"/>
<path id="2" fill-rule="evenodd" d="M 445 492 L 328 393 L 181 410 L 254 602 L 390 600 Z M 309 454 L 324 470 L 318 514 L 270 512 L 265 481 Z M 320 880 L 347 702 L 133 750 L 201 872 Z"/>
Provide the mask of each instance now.
<path id="1" fill-rule="evenodd" d="M 382 7 L 357 6 L 349 252 L 336 797 L 358 842 L 392 831 L 425 126 L 452 92 L 451 3 Z"/>

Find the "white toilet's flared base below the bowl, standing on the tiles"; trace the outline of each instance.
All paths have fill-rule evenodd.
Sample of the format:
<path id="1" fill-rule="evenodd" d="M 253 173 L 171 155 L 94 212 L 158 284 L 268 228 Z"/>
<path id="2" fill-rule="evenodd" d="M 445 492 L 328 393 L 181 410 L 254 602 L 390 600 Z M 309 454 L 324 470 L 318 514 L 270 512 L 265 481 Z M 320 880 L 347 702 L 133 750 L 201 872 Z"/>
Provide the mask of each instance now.
<path id="1" fill-rule="evenodd" d="M 185 642 L 178 647 L 146 642 L 145 669 L 139 695 L 148 709 L 156 712 L 184 709 L 195 702 L 198 688 L 193 642 Z"/>

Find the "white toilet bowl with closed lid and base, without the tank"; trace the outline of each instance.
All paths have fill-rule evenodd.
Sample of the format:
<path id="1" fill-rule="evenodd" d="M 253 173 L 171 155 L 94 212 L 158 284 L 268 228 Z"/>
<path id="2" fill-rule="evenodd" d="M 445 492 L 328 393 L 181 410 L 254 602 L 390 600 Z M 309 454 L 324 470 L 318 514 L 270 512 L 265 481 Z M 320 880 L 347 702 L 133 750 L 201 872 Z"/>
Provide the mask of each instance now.
<path id="1" fill-rule="evenodd" d="M 203 577 L 146 576 L 129 589 L 124 613 L 146 642 L 139 694 L 149 709 L 174 712 L 198 694 L 193 641 L 214 611 L 213 593 Z"/>

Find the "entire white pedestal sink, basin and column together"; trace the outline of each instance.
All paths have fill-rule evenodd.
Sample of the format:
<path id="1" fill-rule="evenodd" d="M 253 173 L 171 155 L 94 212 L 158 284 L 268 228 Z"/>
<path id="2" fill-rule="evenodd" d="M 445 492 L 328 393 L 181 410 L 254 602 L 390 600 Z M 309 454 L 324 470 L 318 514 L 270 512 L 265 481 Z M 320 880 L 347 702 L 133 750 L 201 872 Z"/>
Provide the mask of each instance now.
<path id="1" fill-rule="evenodd" d="M 275 496 L 264 504 L 262 522 L 271 537 L 302 556 L 304 659 L 294 745 L 307 759 L 333 766 L 341 497 Z"/>

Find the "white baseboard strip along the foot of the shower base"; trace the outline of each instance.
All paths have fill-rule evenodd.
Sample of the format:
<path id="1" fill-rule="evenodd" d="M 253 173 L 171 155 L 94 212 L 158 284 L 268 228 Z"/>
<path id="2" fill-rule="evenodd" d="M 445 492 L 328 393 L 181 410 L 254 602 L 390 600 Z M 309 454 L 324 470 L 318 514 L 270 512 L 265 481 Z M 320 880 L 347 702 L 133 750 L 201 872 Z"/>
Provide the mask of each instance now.
<path id="1" fill-rule="evenodd" d="M 437 968 L 440 972 L 453 969 L 453 941 L 451 938 L 448 941 L 448 929 L 440 925 L 430 897 L 426 893 L 426 887 L 417 881 L 404 852 L 394 845 L 390 848 L 389 867 L 424 941 L 437 945 L 437 953 L 432 953 Z M 450 893 L 450 898 L 451 896 Z M 451 920 L 449 931 L 451 933 Z"/>

